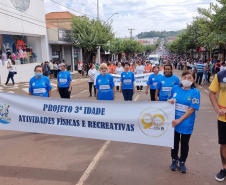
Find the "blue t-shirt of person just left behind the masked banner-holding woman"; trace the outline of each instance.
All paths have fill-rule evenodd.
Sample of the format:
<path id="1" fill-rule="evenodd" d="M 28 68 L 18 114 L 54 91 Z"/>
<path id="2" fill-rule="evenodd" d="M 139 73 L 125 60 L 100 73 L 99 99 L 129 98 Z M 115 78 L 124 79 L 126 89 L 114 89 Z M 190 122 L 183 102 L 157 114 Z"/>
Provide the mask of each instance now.
<path id="1" fill-rule="evenodd" d="M 167 99 L 171 96 L 172 87 L 175 85 L 179 85 L 180 80 L 177 76 L 163 76 L 159 79 L 157 84 L 157 88 L 159 89 L 159 101 L 167 101 Z"/>

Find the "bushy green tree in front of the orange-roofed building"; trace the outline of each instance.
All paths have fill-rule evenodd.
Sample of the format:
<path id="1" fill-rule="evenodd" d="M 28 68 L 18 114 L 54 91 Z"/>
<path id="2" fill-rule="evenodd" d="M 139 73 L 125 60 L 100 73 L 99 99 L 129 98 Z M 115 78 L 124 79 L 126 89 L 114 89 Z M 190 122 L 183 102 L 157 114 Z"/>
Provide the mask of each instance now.
<path id="1" fill-rule="evenodd" d="M 113 38 L 111 23 L 90 20 L 87 17 L 71 18 L 71 34 L 69 41 L 83 48 L 84 63 L 88 61 L 93 50 L 105 45 Z"/>

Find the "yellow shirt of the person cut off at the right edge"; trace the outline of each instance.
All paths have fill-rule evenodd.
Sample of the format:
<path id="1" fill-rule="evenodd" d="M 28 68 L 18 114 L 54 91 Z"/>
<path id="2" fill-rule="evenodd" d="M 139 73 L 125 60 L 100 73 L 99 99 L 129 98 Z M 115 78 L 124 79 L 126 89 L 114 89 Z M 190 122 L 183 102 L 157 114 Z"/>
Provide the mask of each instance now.
<path id="1" fill-rule="evenodd" d="M 226 109 L 226 70 L 217 73 L 209 89 L 215 93 L 218 93 L 220 91 L 219 105 Z M 226 115 L 219 116 L 218 120 L 226 122 L 225 117 Z"/>

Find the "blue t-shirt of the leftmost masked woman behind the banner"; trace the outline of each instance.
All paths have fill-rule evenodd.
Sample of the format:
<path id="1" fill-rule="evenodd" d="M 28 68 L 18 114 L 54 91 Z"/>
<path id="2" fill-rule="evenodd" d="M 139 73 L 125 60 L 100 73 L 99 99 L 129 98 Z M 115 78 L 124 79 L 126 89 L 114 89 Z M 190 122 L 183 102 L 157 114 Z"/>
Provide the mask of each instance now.
<path id="1" fill-rule="evenodd" d="M 48 77 L 42 75 L 41 78 L 35 76 L 31 78 L 29 83 L 29 92 L 32 96 L 49 97 L 49 90 L 52 89 L 52 85 Z"/>

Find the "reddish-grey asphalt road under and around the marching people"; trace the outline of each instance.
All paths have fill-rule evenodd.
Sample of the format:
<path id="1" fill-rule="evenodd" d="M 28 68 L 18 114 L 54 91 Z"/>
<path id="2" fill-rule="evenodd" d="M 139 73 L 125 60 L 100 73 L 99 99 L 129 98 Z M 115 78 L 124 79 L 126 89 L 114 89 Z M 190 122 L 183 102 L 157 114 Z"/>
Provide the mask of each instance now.
<path id="1" fill-rule="evenodd" d="M 180 77 L 181 71 L 175 74 Z M 89 98 L 87 79 L 73 82 L 72 99 Z M 214 185 L 221 169 L 217 116 L 208 96 L 201 92 L 190 151 L 188 172 L 170 170 L 170 148 L 76 137 L 0 131 L 0 185 Z M 22 87 L 24 86 L 24 90 Z M 26 83 L 3 92 L 27 94 Z M 136 101 L 150 101 L 136 92 Z M 54 97 L 59 97 L 54 88 Z M 122 101 L 117 92 L 116 101 Z M 151 103 L 151 102 L 150 102 Z M 225 182 L 224 182 L 225 183 Z"/>

